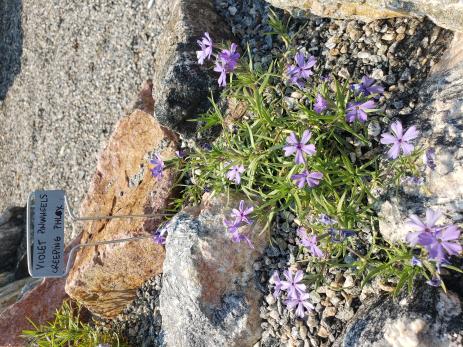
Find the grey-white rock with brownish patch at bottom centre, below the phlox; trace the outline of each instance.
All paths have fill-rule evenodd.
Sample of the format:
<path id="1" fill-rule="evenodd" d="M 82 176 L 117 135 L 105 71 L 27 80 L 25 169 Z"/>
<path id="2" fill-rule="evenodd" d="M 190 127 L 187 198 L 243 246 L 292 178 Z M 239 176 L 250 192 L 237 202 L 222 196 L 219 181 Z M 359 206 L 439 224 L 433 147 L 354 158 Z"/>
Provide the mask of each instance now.
<path id="1" fill-rule="evenodd" d="M 253 346 L 260 338 L 262 293 L 253 264 L 266 241 L 257 223 L 245 231 L 255 249 L 231 241 L 223 220 L 238 201 L 203 198 L 167 228 L 160 295 L 167 346 Z"/>

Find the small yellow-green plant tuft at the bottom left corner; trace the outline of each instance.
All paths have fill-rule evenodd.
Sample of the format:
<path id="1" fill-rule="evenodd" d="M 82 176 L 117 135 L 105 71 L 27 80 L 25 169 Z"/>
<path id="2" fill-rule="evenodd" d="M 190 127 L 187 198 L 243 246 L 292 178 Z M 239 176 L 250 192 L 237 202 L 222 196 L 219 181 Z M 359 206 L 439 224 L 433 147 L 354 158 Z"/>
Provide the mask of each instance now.
<path id="1" fill-rule="evenodd" d="M 95 347 L 103 343 L 112 347 L 127 346 L 120 341 L 117 333 L 102 332 L 92 324 L 81 322 L 81 308 L 80 304 L 64 302 L 56 311 L 53 322 L 37 325 L 29 320 L 34 329 L 24 330 L 23 337 L 28 341 L 28 345 L 39 347 Z"/>

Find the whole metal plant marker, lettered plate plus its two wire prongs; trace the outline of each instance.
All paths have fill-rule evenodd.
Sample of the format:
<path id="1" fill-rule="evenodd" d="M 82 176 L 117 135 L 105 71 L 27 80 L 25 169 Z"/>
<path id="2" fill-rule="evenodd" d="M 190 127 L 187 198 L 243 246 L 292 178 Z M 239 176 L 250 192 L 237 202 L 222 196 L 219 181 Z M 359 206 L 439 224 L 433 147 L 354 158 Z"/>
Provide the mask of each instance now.
<path id="1" fill-rule="evenodd" d="M 69 214 L 72 222 L 170 216 L 170 214 L 162 213 L 145 215 L 76 216 L 64 190 L 35 191 L 31 193 L 27 199 L 26 219 L 27 267 L 31 277 L 65 277 L 71 269 L 75 253 L 83 247 L 136 241 L 151 237 L 147 235 L 76 245 L 71 248 L 65 267 L 64 216 L 66 212 Z"/>

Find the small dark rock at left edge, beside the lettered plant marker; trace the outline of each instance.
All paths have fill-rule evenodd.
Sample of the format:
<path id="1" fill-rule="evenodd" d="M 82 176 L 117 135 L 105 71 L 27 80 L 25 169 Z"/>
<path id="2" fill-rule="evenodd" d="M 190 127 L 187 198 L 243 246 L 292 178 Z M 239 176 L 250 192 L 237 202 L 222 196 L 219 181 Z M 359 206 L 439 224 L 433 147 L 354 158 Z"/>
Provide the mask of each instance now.
<path id="1" fill-rule="evenodd" d="M 0 215 L 0 272 L 16 267 L 19 250 L 26 233 L 26 209 L 10 207 Z"/>

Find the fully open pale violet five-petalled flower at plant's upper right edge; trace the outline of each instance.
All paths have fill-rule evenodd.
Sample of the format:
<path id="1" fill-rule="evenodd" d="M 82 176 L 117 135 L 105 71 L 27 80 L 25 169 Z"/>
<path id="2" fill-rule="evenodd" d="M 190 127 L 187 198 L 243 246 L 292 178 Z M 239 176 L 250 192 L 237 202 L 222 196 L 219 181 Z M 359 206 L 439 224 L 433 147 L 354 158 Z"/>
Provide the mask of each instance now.
<path id="1" fill-rule="evenodd" d="M 391 125 L 391 130 L 393 134 L 381 134 L 381 143 L 392 145 L 391 149 L 387 152 L 388 157 L 396 159 L 400 154 L 400 150 L 402 150 L 404 155 L 410 155 L 414 146 L 408 142 L 418 136 L 419 131 L 416 130 L 416 127 L 414 125 L 411 126 L 404 134 L 402 123 L 397 121 Z"/>

